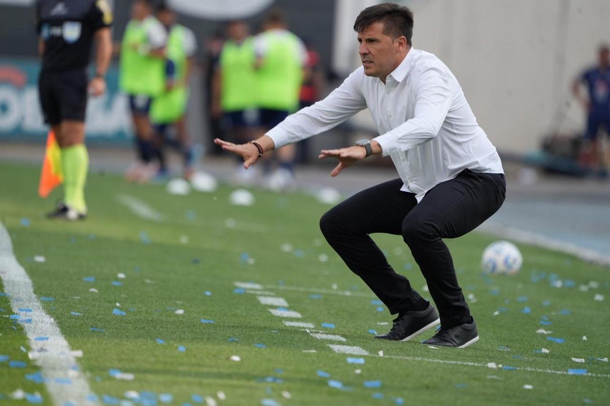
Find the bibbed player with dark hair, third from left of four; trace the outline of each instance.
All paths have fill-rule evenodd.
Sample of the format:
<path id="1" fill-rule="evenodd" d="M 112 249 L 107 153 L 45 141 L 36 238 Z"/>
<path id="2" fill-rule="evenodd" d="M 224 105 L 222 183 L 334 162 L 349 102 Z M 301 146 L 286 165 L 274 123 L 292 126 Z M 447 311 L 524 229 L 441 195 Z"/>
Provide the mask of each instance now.
<path id="1" fill-rule="evenodd" d="M 237 144 L 254 139 L 257 124 L 254 39 L 245 21 L 227 24 L 227 41 L 212 80 L 212 116 L 223 117 L 223 129 Z M 255 173 L 237 166 L 236 181 L 249 183 Z"/>

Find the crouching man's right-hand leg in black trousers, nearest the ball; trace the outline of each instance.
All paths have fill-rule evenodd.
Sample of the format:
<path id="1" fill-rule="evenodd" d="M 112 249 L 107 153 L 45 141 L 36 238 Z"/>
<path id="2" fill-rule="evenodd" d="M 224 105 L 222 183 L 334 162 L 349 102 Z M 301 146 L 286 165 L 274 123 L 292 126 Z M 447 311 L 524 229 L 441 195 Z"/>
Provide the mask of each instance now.
<path id="1" fill-rule="evenodd" d="M 443 238 L 459 237 L 475 229 L 500 208 L 505 193 L 504 175 L 465 170 L 432 188 L 404 218 L 404 242 L 428 282 L 443 329 L 472 323 Z"/>

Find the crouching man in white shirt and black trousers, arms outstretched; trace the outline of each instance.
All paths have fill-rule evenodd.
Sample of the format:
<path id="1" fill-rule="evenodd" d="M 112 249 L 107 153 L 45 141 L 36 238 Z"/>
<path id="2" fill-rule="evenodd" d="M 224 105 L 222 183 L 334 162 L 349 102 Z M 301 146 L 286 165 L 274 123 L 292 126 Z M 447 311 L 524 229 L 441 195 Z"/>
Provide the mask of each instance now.
<path id="1" fill-rule="evenodd" d="M 322 150 L 338 175 L 370 155 L 390 156 L 400 178 L 343 201 L 320 220 L 322 233 L 345 264 L 398 313 L 377 338 L 409 340 L 440 321 L 428 345 L 464 348 L 478 338 L 443 238 L 462 236 L 500 208 L 506 183 L 495 147 L 479 127 L 458 80 L 436 56 L 411 44 L 413 14 L 384 3 L 356 18 L 362 67 L 326 99 L 287 117 L 251 144 L 215 142 L 245 159 L 326 131 L 368 107 L 380 136 L 353 147 Z M 369 237 L 397 234 L 428 282 L 437 310 L 390 267 Z M 440 317 L 439 317 L 440 313 Z"/>

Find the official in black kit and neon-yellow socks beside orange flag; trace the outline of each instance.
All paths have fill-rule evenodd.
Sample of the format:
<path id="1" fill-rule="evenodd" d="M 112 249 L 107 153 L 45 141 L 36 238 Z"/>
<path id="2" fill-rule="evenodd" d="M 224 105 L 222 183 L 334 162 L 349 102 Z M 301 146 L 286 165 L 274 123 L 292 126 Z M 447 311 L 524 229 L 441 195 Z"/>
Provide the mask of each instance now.
<path id="1" fill-rule="evenodd" d="M 104 0 L 38 0 L 38 48 L 42 68 L 38 78 L 45 122 L 55 133 L 61 153 L 64 197 L 48 217 L 79 220 L 87 214 L 85 181 L 89 158 L 85 147 L 87 93 L 106 91 L 112 57 L 112 12 Z M 91 43 L 96 42 L 95 77 L 87 77 Z"/>

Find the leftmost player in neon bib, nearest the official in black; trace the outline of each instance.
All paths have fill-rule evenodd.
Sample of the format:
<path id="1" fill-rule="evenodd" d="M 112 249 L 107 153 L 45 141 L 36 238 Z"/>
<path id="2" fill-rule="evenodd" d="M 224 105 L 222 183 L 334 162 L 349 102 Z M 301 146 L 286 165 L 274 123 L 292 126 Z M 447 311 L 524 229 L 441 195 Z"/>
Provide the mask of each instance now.
<path id="1" fill-rule="evenodd" d="M 156 171 L 151 164 L 156 153 L 148 114 L 152 98 L 165 89 L 167 32 L 152 15 L 149 0 L 134 0 L 131 15 L 121 43 L 119 87 L 129 95 L 140 162 L 125 175 L 128 180 L 146 181 Z"/>

